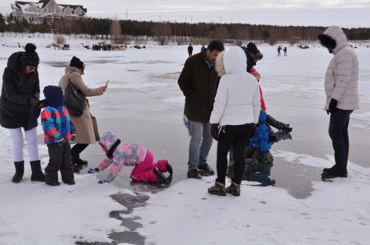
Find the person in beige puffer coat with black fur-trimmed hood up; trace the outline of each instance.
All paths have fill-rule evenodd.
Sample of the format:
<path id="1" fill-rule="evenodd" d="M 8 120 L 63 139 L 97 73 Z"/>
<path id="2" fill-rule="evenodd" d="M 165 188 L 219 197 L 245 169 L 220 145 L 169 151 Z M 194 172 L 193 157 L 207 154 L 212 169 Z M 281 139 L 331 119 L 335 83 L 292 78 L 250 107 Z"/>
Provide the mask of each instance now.
<path id="1" fill-rule="evenodd" d="M 334 149 L 335 165 L 324 168 L 323 178 L 347 177 L 348 124 L 353 110 L 359 109 L 358 102 L 358 58 L 348 46 L 343 30 L 330 26 L 318 39 L 329 53 L 334 54 L 325 74 L 326 104 L 330 113 L 329 136 Z"/>

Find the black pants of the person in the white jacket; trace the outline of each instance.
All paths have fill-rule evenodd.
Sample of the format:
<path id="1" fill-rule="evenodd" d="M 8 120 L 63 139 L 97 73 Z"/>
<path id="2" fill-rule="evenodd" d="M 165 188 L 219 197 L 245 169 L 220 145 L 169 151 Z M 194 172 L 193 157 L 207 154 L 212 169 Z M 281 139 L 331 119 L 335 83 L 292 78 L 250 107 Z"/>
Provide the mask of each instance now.
<path id="1" fill-rule="evenodd" d="M 234 178 L 232 181 L 236 184 L 241 183 L 245 168 L 244 148 L 248 140 L 252 123 L 243 125 L 226 125 L 219 133 L 217 143 L 217 179 L 219 183 L 225 183 L 227 171 L 227 153 L 232 145 L 234 155 Z"/>

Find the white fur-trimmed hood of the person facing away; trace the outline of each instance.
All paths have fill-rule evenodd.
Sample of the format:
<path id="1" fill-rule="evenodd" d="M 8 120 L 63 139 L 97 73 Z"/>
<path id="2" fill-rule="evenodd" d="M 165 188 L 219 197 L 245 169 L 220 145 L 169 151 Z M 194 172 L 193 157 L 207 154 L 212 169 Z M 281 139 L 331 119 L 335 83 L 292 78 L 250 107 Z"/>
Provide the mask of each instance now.
<path id="1" fill-rule="evenodd" d="M 217 55 L 215 69 L 218 76 L 246 70 L 246 57 L 244 51 L 232 46 Z"/>

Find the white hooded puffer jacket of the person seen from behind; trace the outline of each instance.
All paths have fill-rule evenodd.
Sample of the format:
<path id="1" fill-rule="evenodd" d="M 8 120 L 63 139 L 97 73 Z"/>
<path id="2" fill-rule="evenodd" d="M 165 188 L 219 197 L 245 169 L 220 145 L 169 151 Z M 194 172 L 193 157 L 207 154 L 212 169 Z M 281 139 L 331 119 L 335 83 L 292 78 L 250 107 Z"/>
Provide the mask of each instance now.
<path id="1" fill-rule="evenodd" d="M 214 99 L 210 123 L 242 125 L 256 123 L 260 110 L 258 83 L 246 72 L 246 57 L 240 47 L 221 52 L 215 63 L 221 76 Z"/>

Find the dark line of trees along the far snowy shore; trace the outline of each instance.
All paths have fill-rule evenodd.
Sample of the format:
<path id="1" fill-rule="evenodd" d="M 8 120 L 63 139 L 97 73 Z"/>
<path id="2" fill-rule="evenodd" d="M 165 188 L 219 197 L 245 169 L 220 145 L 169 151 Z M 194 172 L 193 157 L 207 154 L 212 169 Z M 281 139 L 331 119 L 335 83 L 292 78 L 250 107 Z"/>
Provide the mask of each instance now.
<path id="1" fill-rule="evenodd" d="M 91 39 L 112 40 L 114 43 L 135 41 L 144 43 L 154 40 L 160 45 L 168 42 L 177 44 L 207 44 L 209 40 L 218 39 L 224 43 L 242 45 L 247 40 L 260 43 L 310 43 L 317 39 L 317 34 L 322 33 L 325 26 L 279 26 L 265 24 L 243 23 L 178 23 L 178 22 L 153 22 L 137 20 L 118 20 L 109 18 L 78 18 L 54 19 L 49 23 L 30 24 L 25 19 L 9 21 L 8 24 L 0 14 L 0 32 L 14 32 L 15 35 L 31 33 L 43 35 L 45 33 L 64 34 L 71 37 L 85 37 Z M 370 28 L 343 28 L 347 38 L 351 41 L 370 39 Z M 28 34 L 29 35 L 29 34 Z"/>

